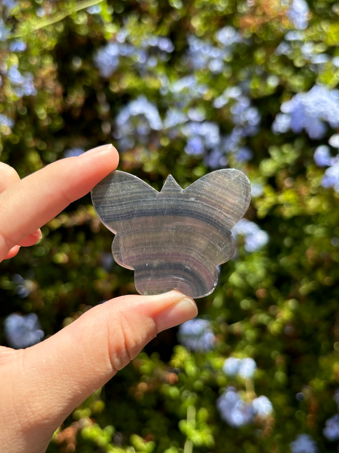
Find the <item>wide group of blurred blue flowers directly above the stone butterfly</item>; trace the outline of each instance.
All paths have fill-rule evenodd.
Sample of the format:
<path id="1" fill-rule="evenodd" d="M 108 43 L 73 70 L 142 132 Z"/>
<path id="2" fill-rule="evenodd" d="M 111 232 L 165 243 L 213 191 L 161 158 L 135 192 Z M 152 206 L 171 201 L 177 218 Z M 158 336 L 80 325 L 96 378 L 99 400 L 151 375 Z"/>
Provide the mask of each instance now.
<path id="1" fill-rule="evenodd" d="M 194 76 L 179 79 L 169 90 L 180 95 L 184 104 L 195 96 L 201 96 L 206 87 L 198 84 Z M 162 130 L 171 139 L 181 136 L 186 140 L 184 150 L 189 155 L 204 156 L 205 163 L 211 168 L 227 165 L 226 153 L 231 153 L 237 162 L 251 159 L 252 151 L 243 145 L 244 137 L 258 132 L 261 117 L 256 107 L 251 106 L 250 98 L 241 94 L 238 88 L 228 89 L 217 98 L 215 105 L 226 105 L 232 99 L 231 120 L 235 124 L 230 135 L 222 136 L 219 125 L 206 121 L 205 112 L 198 108 L 187 108 L 184 111 L 178 106 L 169 108 L 162 122 L 157 107 L 139 96 L 130 101 L 116 117 L 116 130 L 113 137 L 119 140 L 122 150 L 130 149 L 141 143 L 149 144 L 152 131 Z M 154 138 L 158 139 L 156 135 Z"/>

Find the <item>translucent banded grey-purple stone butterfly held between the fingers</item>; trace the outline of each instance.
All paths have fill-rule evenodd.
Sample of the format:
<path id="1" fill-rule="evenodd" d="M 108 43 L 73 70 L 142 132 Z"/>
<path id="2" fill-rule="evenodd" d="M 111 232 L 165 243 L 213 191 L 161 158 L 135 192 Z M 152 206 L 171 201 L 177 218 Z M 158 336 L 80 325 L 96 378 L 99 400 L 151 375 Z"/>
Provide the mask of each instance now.
<path id="1" fill-rule="evenodd" d="M 217 265 L 234 254 L 231 228 L 250 204 L 250 181 L 221 169 L 182 189 L 169 175 L 160 192 L 113 171 L 92 190 L 94 209 L 115 234 L 114 260 L 134 269 L 140 294 L 178 289 L 203 297 L 217 285 Z"/>

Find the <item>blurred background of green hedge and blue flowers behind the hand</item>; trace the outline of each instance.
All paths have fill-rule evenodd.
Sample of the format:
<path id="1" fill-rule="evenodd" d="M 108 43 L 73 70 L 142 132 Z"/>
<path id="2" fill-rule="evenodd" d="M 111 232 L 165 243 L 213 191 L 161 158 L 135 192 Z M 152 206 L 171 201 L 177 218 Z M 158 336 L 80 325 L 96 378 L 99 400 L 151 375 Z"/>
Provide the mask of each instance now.
<path id="1" fill-rule="evenodd" d="M 339 441 L 339 3 L 0 1 L 0 160 L 20 177 L 113 143 L 160 190 L 250 178 L 235 256 L 48 452 L 316 453 Z M 135 293 L 90 196 L 0 264 L 0 344 Z"/>

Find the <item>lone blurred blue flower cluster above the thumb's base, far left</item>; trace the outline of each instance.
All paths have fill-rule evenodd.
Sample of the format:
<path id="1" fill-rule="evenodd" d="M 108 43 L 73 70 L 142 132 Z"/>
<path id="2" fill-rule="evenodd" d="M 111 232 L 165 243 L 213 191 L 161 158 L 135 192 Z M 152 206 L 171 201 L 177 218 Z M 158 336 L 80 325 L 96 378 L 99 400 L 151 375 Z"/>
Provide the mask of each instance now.
<path id="1" fill-rule="evenodd" d="M 24 316 L 12 313 L 5 319 L 4 325 L 7 342 L 14 349 L 33 346 L 44 336 L 35 313 Z"/>

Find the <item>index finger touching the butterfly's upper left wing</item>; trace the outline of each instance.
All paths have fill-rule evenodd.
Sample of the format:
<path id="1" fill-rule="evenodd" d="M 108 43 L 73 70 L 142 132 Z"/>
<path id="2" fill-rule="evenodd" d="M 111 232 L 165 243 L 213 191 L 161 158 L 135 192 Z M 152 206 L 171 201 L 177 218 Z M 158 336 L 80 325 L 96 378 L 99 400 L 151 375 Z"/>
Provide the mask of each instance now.
<path id="1" fill-rule="evenodd" d="M 47 165 L 0 194 L 0 261 L 25 236 L 83 197 L 118 166 L 113 145 Z"/>

